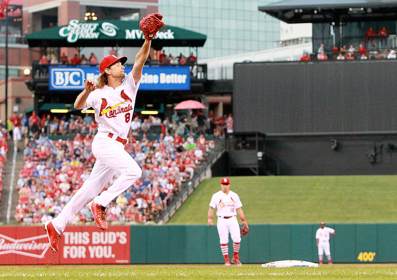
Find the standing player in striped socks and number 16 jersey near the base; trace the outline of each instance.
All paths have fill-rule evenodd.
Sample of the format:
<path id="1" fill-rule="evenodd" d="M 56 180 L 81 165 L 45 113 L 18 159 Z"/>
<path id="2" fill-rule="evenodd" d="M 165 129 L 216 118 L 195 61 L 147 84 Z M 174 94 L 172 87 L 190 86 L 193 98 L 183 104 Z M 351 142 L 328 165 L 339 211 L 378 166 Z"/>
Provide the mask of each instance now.
<path id="1" fill-rule="evenodd" d="M 241 209 L 243 204 L 241 204 L 240 197 L 229 189 L 229 178 L 222 178 L 221 187 L 222 190 L 212 195 L 210 208 L 208 209 L 208 224 L 210 226 L 214 224 L 212 222 L 212 214 L 214 214 L 214 209 L 218 208 L 216 210 L 216 216 L 218 216 L 216 227 L 218 228 L 222 255 L 225 257 L 225 266 L 230 266 L 229 247 L 227 245 L 229 243 L 229 233 L 233 240 L 233 258 L 231 263 L 241 266 L 239 260 L 241 234 L 236 215 L 239 214 L 243 224 L 246 224 L 247 227 L 248 223 L 245 221 L 243 209 Z"/>

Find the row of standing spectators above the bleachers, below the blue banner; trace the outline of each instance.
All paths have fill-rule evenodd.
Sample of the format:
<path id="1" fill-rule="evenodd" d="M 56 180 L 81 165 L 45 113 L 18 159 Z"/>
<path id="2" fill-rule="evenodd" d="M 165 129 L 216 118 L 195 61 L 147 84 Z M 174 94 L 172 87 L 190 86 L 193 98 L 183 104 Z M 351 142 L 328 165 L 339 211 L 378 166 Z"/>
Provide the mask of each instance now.
<path id="1" fill-rule="evenodd" d="M 21 115 L 21 118 L 14 114 L 15 124 L 20 125 L 23 137 L 29 135 L 66 135 L 73 133 L 94 135 L 98 129 L 98 124 L 94 121 L 92 114 L 85 116 L 66 115 L 59 117 L 51 114 L 43 114 L 41 118 L 32 112 L 31 116 Z M 12 120 L 14 124 L 14 120 Z M 189 117 L 186 114 L 174 112 L 171 118 L 161 119 L 158 115 L 148 115 L 144 117 L 134 114 L 131 122 L 131 130 L 134 135 L 159 134 L 159 133 L 178 133 L 179 135 L 194 134 L 214 134 L 214 137 L 224 137 L 225 133 L 233 133 L 233 117 L 219 114 L 216 118 L 213 111 L 210 111 L 208 118 L 204 112 L 198 111 Z"/>

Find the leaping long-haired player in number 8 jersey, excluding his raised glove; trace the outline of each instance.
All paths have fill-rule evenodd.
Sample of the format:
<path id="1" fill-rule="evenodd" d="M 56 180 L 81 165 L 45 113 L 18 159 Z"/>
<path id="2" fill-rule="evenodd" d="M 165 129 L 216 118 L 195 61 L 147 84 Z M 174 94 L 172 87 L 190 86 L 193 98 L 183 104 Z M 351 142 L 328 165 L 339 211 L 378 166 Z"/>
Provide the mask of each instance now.
<path id="1" fill-rule="evenodd" d="M 111 55 L 106 56 L 99 64 L 98 83 L 92 79 L 84 80 L 85 89 L 76 98 L 74 106 L 77 110 L 87 110 L 89 107 L 95 109 L 95 120 L 99 125 L 92 151 L 96 162 L 89 178 L 64 209 L 56 218 L 44 223 L 51 248 L 55 252 L 58 251 L 58 238 L 66 226 L 90 201 L 93 201 L 90 209 L 94 221 L 99 228 L 106 230 L 106 207 L 142 175 L 141 168 L 124 150 L 124 145 L 128 142 L 135 97 L 141 83 L 143 64 L 149 55 L 150 42 L 145 40 L 135 57 L 132 71 L 127 75 L 123 66 L 127 58 Z M 102 191 L 116 172 L 121 175 L 106 191 Z"/>

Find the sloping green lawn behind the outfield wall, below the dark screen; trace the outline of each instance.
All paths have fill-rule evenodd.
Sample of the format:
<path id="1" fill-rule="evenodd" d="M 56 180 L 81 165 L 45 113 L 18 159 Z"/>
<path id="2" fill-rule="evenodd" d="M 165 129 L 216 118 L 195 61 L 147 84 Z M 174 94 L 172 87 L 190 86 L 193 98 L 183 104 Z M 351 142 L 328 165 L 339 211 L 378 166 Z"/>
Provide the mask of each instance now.
<path id="1" fill-rule="evenodd" d="M 232 191 L 249 224 L 397 222 L 397 176 L 238 176 Z M 202 182 L 168 224 L 206 224 L 220 178 Z"/>

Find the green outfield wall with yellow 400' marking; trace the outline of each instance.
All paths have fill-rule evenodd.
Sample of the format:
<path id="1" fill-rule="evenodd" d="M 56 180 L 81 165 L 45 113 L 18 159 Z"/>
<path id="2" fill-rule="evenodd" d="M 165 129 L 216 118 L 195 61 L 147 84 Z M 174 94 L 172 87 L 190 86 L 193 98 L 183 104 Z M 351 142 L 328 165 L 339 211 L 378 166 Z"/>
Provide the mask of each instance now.
<path id="1" fill-rule="evenodd" d="M 326 224 L 333 263 L 397 263 L 397 224 Z M 319 224 L 252 224 L 242 236 L 242 263 L 318 262 Z M 223 263 L 216 226 L 131 226 L 131 264 Z M 233 255 L 229 241 L 229 256 Z M 324 260 L 326 257 L 324 256 Z"/>

